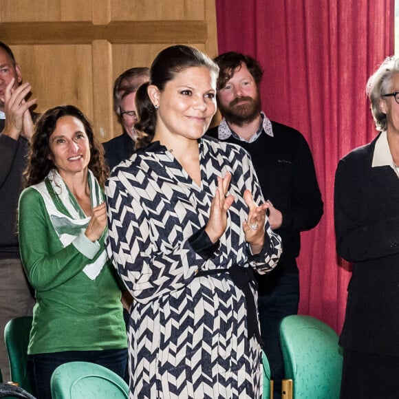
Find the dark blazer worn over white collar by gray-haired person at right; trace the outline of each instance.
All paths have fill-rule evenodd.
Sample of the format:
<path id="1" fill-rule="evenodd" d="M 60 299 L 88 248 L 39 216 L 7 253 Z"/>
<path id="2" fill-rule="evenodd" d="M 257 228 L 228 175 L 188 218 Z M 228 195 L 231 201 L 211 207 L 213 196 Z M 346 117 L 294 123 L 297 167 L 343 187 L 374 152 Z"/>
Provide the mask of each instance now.
<path id="1" fill-rule="evenodd" d="M 390 166 L 371 167 L 376 140 L 336 170 L 336 251 L 353 262 L 340 343 L 398 356 L 399 178 Z"/>

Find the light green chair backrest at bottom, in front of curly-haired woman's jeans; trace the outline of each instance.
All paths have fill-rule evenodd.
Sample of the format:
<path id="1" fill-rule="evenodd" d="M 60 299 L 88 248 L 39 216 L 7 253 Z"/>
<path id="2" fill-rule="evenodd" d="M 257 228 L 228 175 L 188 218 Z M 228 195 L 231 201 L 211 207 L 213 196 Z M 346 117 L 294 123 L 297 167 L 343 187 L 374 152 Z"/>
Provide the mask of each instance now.
<path id="1" fill-rule="evenodd" d="M 127 399 L 129 387 L 114 371 L 87 362 L 58 366 L 51 379 L 53 399 Z"/>

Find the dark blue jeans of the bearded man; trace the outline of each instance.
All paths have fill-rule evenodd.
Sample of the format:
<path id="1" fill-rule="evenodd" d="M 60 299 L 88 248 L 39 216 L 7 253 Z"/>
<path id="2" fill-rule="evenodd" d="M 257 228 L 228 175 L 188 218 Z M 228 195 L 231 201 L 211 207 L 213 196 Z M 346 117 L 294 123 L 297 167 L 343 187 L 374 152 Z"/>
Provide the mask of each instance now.
<path id="1" fill-rule="evenodd" d="M 299 273 L 278 270 L 266 277 L 266 292 L 259 292 L 258 308 L 263 350 L 270 363 L 274 380 L 274 399 L 281 398 L 281 380 L 284 378 L 283 355 L 279 341 L 279 327 L 285 316 L 298 313 Z"/>

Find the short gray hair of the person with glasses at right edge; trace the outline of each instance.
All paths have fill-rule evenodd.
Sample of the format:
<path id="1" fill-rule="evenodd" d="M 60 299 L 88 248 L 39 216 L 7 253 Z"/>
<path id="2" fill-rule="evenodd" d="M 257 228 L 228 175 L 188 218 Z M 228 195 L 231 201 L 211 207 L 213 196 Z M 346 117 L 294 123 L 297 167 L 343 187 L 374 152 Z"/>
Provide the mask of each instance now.
<path id="1" fill-rule="evenodd" d="M 389 56 L 367 81 L 366 93 L 370 100 L 371 114 L 379 131 L 387 130 L 387 115 L 380 110 L 380 101 L 385 100 L 384 95 L 391 91 L 395 74 L 399 74 L 399 56 Z"/>

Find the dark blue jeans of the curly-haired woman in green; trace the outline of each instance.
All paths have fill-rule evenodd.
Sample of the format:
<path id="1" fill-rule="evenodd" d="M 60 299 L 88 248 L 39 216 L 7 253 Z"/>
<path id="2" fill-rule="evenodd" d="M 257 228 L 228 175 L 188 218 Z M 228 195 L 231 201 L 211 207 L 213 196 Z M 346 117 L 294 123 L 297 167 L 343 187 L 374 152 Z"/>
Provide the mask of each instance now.
<path id="1" fill-rule="evenodd" d="M 28 355 L 28 376 L 34 396 L 38 399 L 52 399 L 50 380 L 54 370 L 64 363 L 75 361 L 102 365 L 123 378 L 127 364 L 127 349 L 67 351 Z"/>

